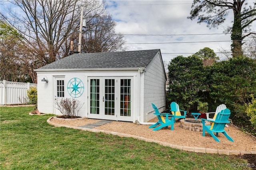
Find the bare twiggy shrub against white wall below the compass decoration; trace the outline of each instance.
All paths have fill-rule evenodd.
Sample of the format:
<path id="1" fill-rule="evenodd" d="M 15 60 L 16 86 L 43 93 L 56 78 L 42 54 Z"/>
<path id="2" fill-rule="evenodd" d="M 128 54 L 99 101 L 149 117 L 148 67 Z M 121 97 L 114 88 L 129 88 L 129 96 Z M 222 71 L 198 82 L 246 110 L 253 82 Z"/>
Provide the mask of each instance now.
<path id="1" fill-rule="evenodd" d="M 83 105 L 84 104 L 80 105 L 80 101 L 74 98 L 72 98 L 72 100 L 70 98 L 61 98 L 56 101 L 57 109 L 66 118 L 76 118 Z"/>

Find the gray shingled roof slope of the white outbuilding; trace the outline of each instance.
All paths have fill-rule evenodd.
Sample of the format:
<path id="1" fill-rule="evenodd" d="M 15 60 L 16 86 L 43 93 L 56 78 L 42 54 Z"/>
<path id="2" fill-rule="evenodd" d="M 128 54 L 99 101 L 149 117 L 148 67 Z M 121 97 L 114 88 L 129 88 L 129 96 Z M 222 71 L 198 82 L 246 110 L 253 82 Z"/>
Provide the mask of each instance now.
<path id="1" fill-rule="evenodd" d="M 160 49 L 73 54 L 38 69 L 146 68 Z"/>

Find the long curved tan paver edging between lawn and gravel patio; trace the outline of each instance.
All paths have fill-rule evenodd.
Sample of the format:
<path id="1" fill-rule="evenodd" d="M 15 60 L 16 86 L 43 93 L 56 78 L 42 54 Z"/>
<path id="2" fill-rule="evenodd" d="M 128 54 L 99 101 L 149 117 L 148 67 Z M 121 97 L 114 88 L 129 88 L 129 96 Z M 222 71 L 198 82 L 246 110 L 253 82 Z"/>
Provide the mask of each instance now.
<path id="1" fill-rule="evenodd" d="M 180 149 L 180 150 L 189 151 L 189 152 L 209 153 L 209 154 L 226 154 L 226 155 L 238 154 L 238 152 L 240 152 L 241 155 L 243 155 L 243 154 L 256 154 L 256 151 L 254 151 L 254 150 L 253 151 L 239 151 L 239 150 L 221 150 L 221 149 L 210 149 L 210 148 L 200 148 L 200 147 L 187 147 L 187 146 L 174 145 L 174 144 L 171 144 L 171 143 L 156 141 L 154 139 L 148 139 L 148 138 L 139 137 L 139 136 L 136 136 L 136 135 L 129 135 L 129 134 L 125 134 L 125 133 L 104 131 L 104 130 L 99 130 L 99 129 L 89 129 L 89 128 L 84 128 L 84 127 L 76 127 L 76 126 L 68 126 L 68 125 L 60 125 L 58 123 L 54 123 L 54 122 L 50 121 L 53 117 L 50 117 L 49 119 L 47 119 L 47 123 L 50 124 L 50 125 L 53 125 L 55 127 L 68 127 L 68 128 L 73 128 L 73 129 L 78 129 L 78 130 L 83 130 L 83 131 L 112 134 L 112 135 L 117 135 L 119 137 L 132 137 L 134 139 L 139 139 L 141 141 L 158 143 L 159 145 L 162 145 L 162 146 L 167 146 L 167 147 L 171 147 L 171 148 L 174 148 L 174 149 Z"/>

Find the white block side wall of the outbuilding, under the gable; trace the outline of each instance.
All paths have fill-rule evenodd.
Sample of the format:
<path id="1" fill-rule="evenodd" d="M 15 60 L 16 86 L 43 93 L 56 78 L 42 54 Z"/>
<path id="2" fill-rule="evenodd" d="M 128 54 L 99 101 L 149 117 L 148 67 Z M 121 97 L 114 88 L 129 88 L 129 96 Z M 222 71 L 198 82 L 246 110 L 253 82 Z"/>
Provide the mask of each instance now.
<path id="1" fill-rule="evenodd" d="M 165 110 L 165 84 L 166 78 L 162 58 L 157 54 L 144 72 L 144 122 L 155 117 L 151 103 L 155 104 L 160 112 Z"/>

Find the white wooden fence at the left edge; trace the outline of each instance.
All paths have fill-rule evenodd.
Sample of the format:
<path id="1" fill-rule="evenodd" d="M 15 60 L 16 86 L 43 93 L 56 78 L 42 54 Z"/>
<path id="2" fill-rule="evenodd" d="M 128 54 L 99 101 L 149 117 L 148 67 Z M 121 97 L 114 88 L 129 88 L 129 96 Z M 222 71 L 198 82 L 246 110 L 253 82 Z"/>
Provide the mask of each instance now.
<path id="1" fill-rule="evenodd" d="M 30 87 L 37 87 L 37 84 L 0 81 L 0 105 L 24 103 Z"/>

